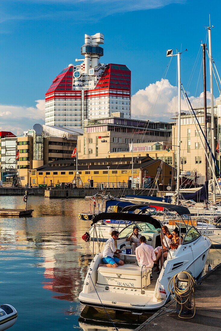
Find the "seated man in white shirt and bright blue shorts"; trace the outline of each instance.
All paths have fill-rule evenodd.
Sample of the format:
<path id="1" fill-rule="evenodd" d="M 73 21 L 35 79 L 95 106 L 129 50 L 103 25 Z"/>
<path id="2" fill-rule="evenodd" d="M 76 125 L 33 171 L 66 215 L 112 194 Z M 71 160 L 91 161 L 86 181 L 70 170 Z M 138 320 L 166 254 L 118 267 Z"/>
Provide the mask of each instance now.
<path id="1" fill-rule="evenodd" d="M 98 267 L 111 267 L 111 268 L 117 268 L 117 265 L 123 265 L 124 262 L 119 259 L 121 253 L 120 249 L 115 249 L 114 241 L 117 240 L 119 235 L 118 231 L 112 231 L 111 232 L 111 238 L 108 239 L 105 243 L 105 248 L 103 252 L 103 262 L 105 264 L 99 263 Z M 113 254 L 117 253 L 117 257 L 113 257 Z"/>

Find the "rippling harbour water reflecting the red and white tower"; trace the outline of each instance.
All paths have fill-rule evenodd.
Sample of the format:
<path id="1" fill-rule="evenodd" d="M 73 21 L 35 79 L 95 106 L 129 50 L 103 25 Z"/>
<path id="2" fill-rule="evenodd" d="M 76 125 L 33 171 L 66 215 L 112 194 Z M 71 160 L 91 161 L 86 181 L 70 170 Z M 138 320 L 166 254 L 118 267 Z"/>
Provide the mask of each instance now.
<path id="1" fill-rule="evenodd" d="M 0 196 L 0 208 L 24 206 L 22 196 Z M 89 211 L 90 202 L 29 196 L 28 208 L 34 209 L 32 217 L 0 218 L 0 304 L 18 311 L 12 330 L 112 330 L 100 322 L 95 327 L 79 321 L 84 306 L 78 295 L 93 246 L 81 238 L 90 221 L 77 215 Z M 205 270 L 208 263 L 221 262 L 220 253 L 210 250 Z"/>

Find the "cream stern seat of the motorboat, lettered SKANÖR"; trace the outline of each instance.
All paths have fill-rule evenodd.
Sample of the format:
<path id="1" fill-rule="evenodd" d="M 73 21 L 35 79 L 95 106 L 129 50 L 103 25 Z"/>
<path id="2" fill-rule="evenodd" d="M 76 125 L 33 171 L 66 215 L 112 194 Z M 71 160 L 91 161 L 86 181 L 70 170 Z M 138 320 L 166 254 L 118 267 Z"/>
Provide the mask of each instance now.
<path id="1" fill-rule="evenodd" d="M 142 275 L 141 275 L 142 269 Z M 135 264 L 119 265 L 117 268 L 98 268 L 97 284 L 129 288 L 146 288 L 150 285 L 151 268 L 140 268 Z"/>

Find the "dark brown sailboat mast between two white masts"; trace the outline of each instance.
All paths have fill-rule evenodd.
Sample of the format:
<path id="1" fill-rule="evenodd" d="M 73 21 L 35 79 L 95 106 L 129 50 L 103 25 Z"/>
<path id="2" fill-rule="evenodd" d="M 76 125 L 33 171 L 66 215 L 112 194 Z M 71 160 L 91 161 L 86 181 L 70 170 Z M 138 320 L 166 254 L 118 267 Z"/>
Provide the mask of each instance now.
<path id="1" fill-rule="evenodd" d="M 204 97 L 204 134 L 207 140 L 207 109 L 206 109 L 206 44 L 202 44 L 203 51 L 203 97 Z M 207 144 L 205 140 L 205 150 L 207 152 Z M 205 182 L 208 181 L 208 165 L 205 155 Z"/>

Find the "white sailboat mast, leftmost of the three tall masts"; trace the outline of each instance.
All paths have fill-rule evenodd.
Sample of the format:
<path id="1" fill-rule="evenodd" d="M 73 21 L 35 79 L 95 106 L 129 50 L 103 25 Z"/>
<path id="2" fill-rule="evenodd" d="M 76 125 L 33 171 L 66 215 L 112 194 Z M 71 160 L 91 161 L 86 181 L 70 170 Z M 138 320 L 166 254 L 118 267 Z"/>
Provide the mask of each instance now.
<path id="1" fill-rule="evenodd" d="M 177 204 L 179 205 L 179 190 L 180 190 L 180 132 L 181 132 L 181 79 L 180 79 L 180 53 L 177 54 L 177 68 L 178 68 Z"/>

